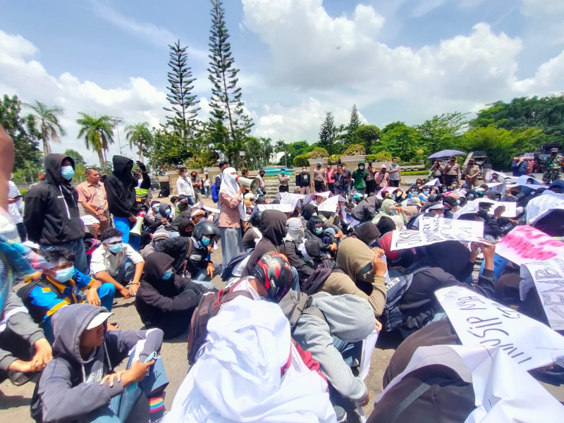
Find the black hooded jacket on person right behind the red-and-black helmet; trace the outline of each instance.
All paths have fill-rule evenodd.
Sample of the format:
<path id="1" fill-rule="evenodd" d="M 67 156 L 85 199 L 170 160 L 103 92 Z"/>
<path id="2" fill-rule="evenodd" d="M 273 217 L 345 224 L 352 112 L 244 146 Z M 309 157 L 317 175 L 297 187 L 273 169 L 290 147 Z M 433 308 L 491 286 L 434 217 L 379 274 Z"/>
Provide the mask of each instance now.
<path id="1" fill-rule="evenodd" d="M 283 252 L 284 237 L 286 236 L 286 214 L 278 210 L 264 210 L 260 217 L 260 227 L 262 228 L 262 240 L 257 243 L 257 247 L 247 262 L 243 270 L 243 277 L 252 276 L 255 266 L 267 252 Z"/>

